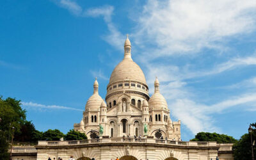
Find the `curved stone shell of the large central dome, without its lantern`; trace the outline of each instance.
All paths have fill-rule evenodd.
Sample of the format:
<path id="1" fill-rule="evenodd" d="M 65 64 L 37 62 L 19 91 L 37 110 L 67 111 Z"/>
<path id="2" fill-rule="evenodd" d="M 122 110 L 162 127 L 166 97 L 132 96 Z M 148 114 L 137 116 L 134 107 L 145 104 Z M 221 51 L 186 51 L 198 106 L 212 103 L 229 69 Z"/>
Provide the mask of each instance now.
<path id="1" fill-rule="evenodd" d="M 140 66 L 132 59 L 124 59 L 115 67 L 109 79 L 109 84 L 124 79 L 136 80 L 147 84 Z"/>

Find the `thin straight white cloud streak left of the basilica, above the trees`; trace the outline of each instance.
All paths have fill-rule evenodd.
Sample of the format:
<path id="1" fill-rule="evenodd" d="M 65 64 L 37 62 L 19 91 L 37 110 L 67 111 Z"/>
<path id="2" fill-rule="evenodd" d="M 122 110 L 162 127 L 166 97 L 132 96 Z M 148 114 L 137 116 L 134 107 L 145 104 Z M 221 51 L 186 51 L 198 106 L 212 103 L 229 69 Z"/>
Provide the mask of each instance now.
<path id="1" fill-rule="evenodd" d="M 21 102 L 22 106 L 33 108 L 33 109 L 68 109 L 68 110 L 74 110 L 74 111 L 83 111 L 82 109 L 76 109 L 76 108 L 69 108 L 65 106 L 57 106 L 57 105 L 44 105 L 44 104 L 38 104 L 34 102 Z"/>

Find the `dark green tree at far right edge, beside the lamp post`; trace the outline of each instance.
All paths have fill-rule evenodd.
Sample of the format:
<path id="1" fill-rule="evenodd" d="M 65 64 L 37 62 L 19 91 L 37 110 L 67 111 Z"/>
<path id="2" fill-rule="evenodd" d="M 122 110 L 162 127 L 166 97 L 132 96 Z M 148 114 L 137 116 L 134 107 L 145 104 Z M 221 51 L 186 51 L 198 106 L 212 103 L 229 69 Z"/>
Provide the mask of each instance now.
<path id="1" fill-rule="evenodd" d="M 252 132 L 252 140 L 256 141 L 256 123 L 251 124 L 253 127 Z M 251 135 L 246 133 L 241 136 L 240 140 L 237 141 L 234 146 L 234 159 L 243 159 L 243 160 L 250 160 L 252 159 L 252 143 L 251 143 Z M 256 156 L 256 147 L 253 148 L 253 154 Z"/>

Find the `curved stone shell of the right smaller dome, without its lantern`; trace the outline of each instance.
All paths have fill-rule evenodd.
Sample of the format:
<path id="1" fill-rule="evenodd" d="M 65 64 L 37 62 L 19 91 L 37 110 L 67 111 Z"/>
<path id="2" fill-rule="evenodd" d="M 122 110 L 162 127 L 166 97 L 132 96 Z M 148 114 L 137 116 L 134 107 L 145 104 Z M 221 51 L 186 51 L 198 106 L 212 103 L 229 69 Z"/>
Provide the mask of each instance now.
<path id="1" fill-rule="evenodd" d="M 168 108 L 166 100 L 159 92 L 154 93 L 152 97 L 150 97 L 148 104 L 149 108 L 153 109 L 162 109 L 163 107 Z"/>

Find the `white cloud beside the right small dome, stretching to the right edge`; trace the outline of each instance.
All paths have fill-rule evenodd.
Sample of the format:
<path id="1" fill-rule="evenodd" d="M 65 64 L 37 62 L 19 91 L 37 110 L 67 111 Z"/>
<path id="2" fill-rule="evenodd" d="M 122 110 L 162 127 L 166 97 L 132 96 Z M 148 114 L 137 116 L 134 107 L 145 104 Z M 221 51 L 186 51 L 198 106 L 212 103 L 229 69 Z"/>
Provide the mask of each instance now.
<path id="1" fill-rule="evenodd" d="M 216 127 L 214 114 L 221 113 L 227 109 L 239 107 L 246 111 L 256 111 L 252 104 L 256 102 L 256 93 L 230 97 L 211 106 L 196 103 L 191 99 L 168 100 L 172 115 L 179 118 L 193 134 L 201 131 L 221 132 Z"/>

